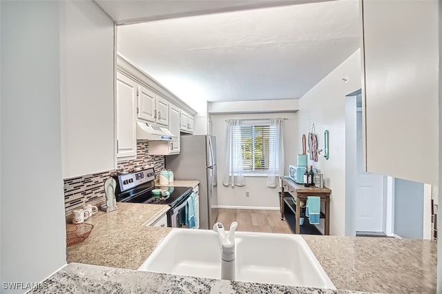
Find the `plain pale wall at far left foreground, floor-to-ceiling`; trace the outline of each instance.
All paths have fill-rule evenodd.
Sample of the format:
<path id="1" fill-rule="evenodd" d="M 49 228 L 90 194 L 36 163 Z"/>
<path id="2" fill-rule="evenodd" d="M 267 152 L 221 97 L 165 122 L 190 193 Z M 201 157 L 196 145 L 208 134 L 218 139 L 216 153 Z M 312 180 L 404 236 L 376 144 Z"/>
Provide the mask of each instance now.
<path id="1" fill-rule="evenodd" d="M 0 19 L 1 282 L 41 282 L 66 264 L 59 3 L 1 1 Z"/>

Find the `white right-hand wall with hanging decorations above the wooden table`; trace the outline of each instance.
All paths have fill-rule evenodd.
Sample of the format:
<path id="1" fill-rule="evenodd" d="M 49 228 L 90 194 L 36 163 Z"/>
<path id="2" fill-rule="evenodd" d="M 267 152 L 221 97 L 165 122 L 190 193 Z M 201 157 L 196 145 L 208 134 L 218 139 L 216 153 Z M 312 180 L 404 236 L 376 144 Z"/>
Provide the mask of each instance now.
<path id="1" fill-rule="evenodd" d="M 349 77 L 347 83 L 342 79 Z M 318 162 L 309 161 L 324 173 L 330 196 L 330 235 L 345 235 L 345 95 L 361 88 L 361 51 L 329 73 L 300 99 L 298 111 L 298 146 L 300 136 L 315 124 L 318 147 L 324 147 L 324 130 L 329 130 L 329 159 L 323 153 Z"/>

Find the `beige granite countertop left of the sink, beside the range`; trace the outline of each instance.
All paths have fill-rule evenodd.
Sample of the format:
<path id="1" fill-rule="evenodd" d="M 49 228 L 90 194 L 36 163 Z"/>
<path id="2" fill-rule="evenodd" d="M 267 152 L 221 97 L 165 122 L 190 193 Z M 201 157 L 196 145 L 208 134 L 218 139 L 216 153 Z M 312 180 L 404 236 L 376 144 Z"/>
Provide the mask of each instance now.
<path id="1" fill-rule="evenodd" d="M 84 242 L 66 249 L 68 263 L 137 269 L 171 231 L 148 226 L 166 213 L 169 205 L 118 202 L 117 207 L 86 220 L 94 228 Z"/>

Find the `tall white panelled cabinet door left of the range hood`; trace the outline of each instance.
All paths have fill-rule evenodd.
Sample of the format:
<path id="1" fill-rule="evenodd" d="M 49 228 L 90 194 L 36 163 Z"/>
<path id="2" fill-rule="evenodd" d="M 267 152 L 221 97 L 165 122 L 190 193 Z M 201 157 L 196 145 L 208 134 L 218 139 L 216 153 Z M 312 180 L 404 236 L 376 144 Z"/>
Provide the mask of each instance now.
<path id="1" fill-rule="evenodd" d="M 117 157 L 137 155 L 137 83 L 117 72 Z"/>

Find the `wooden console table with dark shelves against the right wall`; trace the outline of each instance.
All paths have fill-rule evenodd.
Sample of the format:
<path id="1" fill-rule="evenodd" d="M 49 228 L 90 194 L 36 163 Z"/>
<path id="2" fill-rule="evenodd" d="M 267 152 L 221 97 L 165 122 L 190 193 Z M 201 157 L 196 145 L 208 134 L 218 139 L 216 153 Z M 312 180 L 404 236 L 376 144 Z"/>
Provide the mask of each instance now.
<path id="1" fill-rule="evenodd" d="M 321 213 L 321 218 L 325 219 L 325 235 L 330 234 L 330 193 L 332 190 L 329 188 L 316 188 L 316 187 L 305 187 L 303 184 L 296 184 L 292 179 L 286 177 L 280 177 L 282 181 L 281 188 L 281 199 L 280 199 L 280 212 L 281 219 L 284 219 L 284 196 L 285 192 L 290 193 L 291 197 L 296 200 L 296 222 L 295 222 L 295 234 L 300 234 L 300 200 L 307 201 L 307 196 L 318 196 L 320 197 L 320 202 L 325 203 L 325 213 Z M 288 203 L 287 203 L 288 204 Z M 308 222 L 308 220 L 305 220 Z"/>

